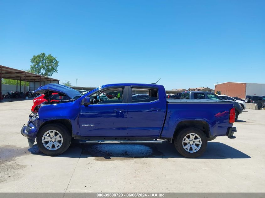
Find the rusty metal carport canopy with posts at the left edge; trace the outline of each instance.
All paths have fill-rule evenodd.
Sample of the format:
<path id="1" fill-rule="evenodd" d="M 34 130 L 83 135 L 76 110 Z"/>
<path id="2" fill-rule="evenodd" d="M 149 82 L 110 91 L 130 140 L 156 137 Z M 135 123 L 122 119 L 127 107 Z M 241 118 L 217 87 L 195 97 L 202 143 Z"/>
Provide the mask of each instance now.
<path id="1" fill-rule="evenodd" d="M 0 65 L 0 93 L 2 94 L 2 79 L 11 79 L 11 80 L 19 80 L 19 81 L 27 81 L 27 82 L 44 82 L 44 81 L 58 81 L 58 79 L 49 78 L 47 76 L 42 76 L 38 74 L 33 74 L 30 72 L 26 72 L 19 69 L 13 69 L 10 67 L 6 67 Z M 20 85 L 21 86 L 21 85 Z M 25 94 L 26 84 L 24 84 L 24 94 Z M 21 90 L 21 89 L 20 89 Z M 0 97 L 1 101 L 1 97 Z"/>

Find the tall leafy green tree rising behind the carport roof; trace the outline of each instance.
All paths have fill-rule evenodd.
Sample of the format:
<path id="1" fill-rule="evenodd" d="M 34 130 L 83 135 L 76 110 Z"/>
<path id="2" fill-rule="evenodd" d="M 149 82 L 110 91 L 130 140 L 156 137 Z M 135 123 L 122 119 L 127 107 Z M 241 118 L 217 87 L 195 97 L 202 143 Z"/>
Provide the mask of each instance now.
<path id="1" fill-rule="evenodd" d="M 30 70 L 39 75 L 51 76 L 54 73 L 57 73 L 57 67 L 59 61 L 56 60 L 56 57 L 53 57 L 51 54 L 46 55 L 45 53 L 40 53 L 39 55 L 34 55 L 30 62 Z"/>

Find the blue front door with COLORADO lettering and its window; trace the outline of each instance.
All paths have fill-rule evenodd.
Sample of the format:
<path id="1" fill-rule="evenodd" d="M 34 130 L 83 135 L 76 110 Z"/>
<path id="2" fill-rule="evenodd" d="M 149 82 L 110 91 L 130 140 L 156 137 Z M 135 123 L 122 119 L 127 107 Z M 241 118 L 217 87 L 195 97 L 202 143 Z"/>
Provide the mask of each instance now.
<path id="1" fill-rule="evenodd" d="M 81 136 L 126 136 L 128 93 L 124 87 L 96 90 L 90 95 L 91 104 L 81 104 Z"/>

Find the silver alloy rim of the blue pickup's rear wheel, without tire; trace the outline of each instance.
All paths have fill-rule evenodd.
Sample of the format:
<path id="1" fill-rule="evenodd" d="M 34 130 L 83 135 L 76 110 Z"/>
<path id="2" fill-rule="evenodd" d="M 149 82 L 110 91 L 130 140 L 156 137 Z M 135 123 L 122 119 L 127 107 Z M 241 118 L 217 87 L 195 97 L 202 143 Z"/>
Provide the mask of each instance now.
<path id="1" fill-rule="evenodd" d="M 202 140 L 196 133 L 187 134 L 182 140 L 183 148 L 189 153 L 195 153 L 201 148 Z"/>

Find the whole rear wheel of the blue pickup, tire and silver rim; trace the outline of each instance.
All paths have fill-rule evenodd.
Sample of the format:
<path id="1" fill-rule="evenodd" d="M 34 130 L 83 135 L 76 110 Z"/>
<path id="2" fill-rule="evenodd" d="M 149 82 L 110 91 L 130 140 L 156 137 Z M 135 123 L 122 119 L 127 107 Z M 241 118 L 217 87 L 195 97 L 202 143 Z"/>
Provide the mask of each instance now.
<path id="1" fill-rule="evenodd" d="M 174 138 L 174 145 L 180 155 L 195 158 L 206 150 L 207 137 L 200 129 L 189 127 L 179 132 Z"/>

